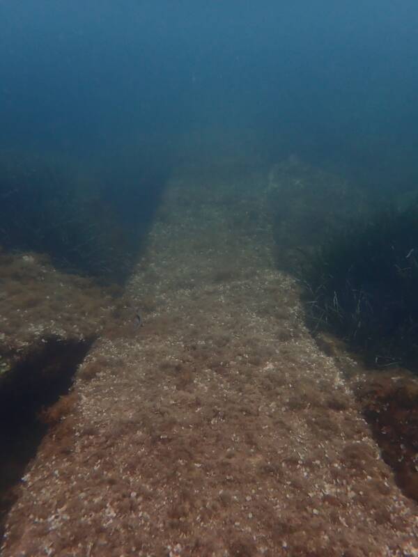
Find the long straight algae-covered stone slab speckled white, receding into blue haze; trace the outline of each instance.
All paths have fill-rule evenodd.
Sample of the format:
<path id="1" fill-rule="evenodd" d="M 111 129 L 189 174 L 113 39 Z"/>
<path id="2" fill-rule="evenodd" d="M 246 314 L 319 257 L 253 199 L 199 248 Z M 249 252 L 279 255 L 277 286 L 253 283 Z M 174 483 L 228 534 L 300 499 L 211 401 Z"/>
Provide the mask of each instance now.
<path id="1" fill-rule="evenodd" d="M 17 488 L 3 557 L 418 555 L 361 377 L 320 350 L 277 270 L 266 191 L 245 169 L 171 178 L 123 310 L 88 309 L 98 339 Z"/>

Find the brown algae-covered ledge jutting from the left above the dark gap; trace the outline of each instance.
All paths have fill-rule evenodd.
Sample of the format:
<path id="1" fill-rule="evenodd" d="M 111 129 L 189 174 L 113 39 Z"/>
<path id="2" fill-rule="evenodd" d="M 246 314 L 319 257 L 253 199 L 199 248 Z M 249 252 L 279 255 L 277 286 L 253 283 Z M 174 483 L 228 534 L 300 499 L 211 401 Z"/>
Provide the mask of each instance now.
<path id="1" fill-rule="evenodd" d="M 111 309 L 109 294 L 88 278 L 57 271 L 45 256 L 0 251 L 0 355 L 5 368 L 47 337 L 82 340 L 97 335 Z"/>

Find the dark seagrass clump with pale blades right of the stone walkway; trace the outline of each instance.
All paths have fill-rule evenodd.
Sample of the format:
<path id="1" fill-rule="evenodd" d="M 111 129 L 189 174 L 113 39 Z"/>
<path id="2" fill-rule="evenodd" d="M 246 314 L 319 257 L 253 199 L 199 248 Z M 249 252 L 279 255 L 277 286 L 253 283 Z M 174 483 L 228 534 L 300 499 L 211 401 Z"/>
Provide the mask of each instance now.
<path id="1" fill-rule="evenodd" d="M 336 231 L 302 270 L 307 319 L 378 368 L 418 372 L 418 200 Z"/>

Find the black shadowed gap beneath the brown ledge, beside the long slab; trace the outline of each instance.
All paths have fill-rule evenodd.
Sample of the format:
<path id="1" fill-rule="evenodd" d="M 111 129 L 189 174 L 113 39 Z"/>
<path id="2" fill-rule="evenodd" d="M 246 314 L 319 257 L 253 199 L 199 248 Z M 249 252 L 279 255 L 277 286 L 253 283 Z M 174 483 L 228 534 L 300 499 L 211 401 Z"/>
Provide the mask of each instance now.
<path id="1" fill-rule="evenodd" d="M 48 430 L 65 414 L 64 397 L 91 340 L 47 338 L 0 380 L 0 535 L 15 486 Z M 70 400 L 65 401 L 66 404 Z"/>

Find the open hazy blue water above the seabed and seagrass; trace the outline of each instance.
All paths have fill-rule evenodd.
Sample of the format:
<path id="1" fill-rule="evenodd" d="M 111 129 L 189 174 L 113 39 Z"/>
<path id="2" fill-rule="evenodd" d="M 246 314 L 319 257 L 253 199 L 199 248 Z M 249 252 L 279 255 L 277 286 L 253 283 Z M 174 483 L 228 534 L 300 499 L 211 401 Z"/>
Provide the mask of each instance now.
<path id="1" fill-rule="evenodd" d="M 404 187 L 417 25 L 411 0 L 2 0 L 0 146 L 135 146 L 160 164 L 296 152 Z"/>

